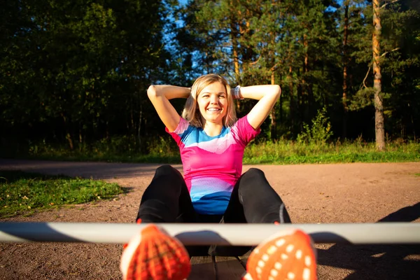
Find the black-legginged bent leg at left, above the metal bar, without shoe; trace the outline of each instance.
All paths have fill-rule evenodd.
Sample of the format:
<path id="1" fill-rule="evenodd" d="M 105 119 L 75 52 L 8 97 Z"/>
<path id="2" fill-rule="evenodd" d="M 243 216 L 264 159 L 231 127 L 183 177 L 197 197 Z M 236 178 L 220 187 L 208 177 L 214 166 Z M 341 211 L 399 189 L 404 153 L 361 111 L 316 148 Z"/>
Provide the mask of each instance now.
<path id="1" fill-rule="evenodd" d="M 193 223 L 197 214 L 181 173 L 170 165 L 156 169 L 144 191 L 137 220 L 142 223 Z"/>

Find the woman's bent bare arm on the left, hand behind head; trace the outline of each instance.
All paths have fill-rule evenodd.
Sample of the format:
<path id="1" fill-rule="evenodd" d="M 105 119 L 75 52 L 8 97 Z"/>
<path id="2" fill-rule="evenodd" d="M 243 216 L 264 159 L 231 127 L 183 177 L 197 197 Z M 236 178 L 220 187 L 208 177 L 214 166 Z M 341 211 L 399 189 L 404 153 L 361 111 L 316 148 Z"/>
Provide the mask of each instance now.
<path id="1" fill-rule="evenodd" d="M 160 120 L 168 128 L 169 132 L 176 130 L 181 118 L 174 106 L 169 102 L 169 99 L 188 98 L 190 92 L 189 87 L 177 87 L 175 85 L 151 85 L 148 88 L 147 96 L 151 99 Z"/>

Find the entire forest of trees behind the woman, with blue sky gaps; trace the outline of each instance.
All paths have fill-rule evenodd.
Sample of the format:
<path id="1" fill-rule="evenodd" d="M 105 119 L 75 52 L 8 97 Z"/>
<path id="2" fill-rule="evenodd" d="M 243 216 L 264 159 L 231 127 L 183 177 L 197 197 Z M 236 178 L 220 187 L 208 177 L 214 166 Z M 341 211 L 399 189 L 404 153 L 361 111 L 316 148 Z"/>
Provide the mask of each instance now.
<path id="1" fill-rule="evenodd" d="M 281 86 L 259 141 L 311 125 L 379 151 L 419 139 L 418 1 L 20 0 L 0 13 L 2 156 L 151 153 L 170 139 L 148 86 L 205 73 Z M 253 101 L 236 106 L 244 116 Z"/>

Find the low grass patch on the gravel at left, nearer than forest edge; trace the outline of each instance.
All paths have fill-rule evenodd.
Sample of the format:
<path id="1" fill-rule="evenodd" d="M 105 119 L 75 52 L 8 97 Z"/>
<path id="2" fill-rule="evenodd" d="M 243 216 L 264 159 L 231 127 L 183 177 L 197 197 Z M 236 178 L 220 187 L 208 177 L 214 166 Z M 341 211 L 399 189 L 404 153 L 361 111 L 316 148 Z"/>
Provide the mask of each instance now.
<path id="1" fill-rule="evenodd" d="M 123 188 L 117 183 L 0 170 L 0 217 L 106 200 L 120 193 Z"/>

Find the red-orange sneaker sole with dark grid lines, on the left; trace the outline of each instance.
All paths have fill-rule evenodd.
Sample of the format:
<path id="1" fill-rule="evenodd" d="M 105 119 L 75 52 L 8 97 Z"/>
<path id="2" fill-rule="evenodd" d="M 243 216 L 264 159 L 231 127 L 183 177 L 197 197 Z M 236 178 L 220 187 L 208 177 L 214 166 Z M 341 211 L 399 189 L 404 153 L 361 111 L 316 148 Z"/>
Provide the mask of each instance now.
<path id="1" fill-rule="evenodd" d="M 125 247 L 120 270 L 124 280 L 182 280 L 190 274 L 190 256 L 178 239 L 150 224 Z"/>

